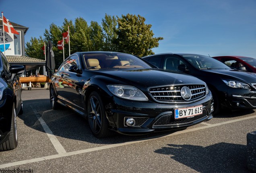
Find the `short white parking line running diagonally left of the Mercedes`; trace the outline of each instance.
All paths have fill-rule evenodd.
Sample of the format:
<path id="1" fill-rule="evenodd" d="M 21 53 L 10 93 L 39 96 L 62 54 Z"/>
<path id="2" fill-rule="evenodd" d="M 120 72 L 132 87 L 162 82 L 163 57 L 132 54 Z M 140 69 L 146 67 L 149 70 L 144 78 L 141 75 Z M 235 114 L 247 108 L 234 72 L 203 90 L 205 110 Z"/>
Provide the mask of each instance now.
<path id="1" fill-rule="evenodd" d="M 45 121 L 42 119 L 42 117 L 40 117 L 40 115 L 38 114 L 37 111 L 35 111 L 35 109 L 33 109 L 33 107 L 30 105 L 31 109 L 33 110 L 35 116 L 37 117 L 38 121 L 40 122 L 40 124 L 43 127 L 43 130 L 45 131 L 45 133 L 47 134 L 47 136 L 49 137 L 50 141 L 52 142 L 52 145 L 54 146 L 54 148 L 56 149 L 56 151 L 59 154 L 62 153 L 66 153 L 66 150 L 64 149 L 64 147 L 60 144 L 60 141 L 58 141 L 58 139 L 56 138 L 56 136 L 52 133 L 51 129 L 47 126 L 47 124 L 45 123 Z"/>

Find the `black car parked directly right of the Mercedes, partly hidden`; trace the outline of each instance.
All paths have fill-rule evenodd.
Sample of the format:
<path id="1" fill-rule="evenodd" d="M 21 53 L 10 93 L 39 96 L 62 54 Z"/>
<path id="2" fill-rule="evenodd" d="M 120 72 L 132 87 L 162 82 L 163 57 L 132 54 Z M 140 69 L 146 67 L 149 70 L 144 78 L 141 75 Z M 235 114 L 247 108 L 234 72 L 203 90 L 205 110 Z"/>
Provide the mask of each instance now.
<path id="1" fill-rule="evenodd" d="M 143 59 L 159 68 L 185 72 L 206 82 L 213 94 L 214 115 L 221 113 L 222 108 L 256 109 L 256 73 L 235 70 L 200 54 L 163 53 Z"/>

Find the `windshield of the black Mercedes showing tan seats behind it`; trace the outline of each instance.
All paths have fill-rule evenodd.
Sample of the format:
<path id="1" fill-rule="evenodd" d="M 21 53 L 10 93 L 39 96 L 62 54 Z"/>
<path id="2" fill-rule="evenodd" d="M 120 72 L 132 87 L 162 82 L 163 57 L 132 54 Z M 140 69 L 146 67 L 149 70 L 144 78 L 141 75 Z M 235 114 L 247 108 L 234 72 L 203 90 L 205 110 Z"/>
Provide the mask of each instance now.
<path id="1" fill-rule="evenodd" d="M 118 52 L 97 52 L 84 54 L 83 56 L 88 69 L 153 68 L 141 58 L 131 54 Z"/>

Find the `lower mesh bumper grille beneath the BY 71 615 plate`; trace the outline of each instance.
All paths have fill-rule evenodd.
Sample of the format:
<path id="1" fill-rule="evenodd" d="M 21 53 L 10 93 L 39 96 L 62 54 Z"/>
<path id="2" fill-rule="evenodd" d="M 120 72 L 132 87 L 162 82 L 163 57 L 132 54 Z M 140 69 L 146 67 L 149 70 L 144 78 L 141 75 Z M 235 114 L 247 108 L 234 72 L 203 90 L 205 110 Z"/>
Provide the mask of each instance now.
<path id="1" fill-rule="evenodd" d="M 171 126 L 171 125 L 182 125 L 182 124 L 186 124 L 186 123 L 191 123 L 193 121 L 202 119 L 204 117 L 206 117 L 207 111 L 206 109 L 203 109 L 203 113 L 201 115 L 192 117 L 192 118 L 187 118 L 187 119 L 179 119 L 179 120 L 174 120 L 174 117 L 172 115 L 164 115 L 162 117 L 160 117 L 152 126 L 152 128 L 156 129 L 156 128 L 161 128 L 164 126 Z"/>

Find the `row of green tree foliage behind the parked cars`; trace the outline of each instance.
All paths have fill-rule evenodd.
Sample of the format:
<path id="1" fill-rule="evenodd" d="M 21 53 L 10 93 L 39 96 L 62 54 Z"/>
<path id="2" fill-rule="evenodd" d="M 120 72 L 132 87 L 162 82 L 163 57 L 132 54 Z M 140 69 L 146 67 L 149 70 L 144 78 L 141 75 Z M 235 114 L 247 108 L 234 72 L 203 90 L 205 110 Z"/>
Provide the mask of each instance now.
<path id="1" fill-rule="evenodd" d="M 115 51 L 126 52 L 137 56 L 154 54 L 152 48 L 159 46 L 162 37 L 153 37 L 151 24 L 145 24 L 145 18 L 138 15 L 127 14 L 109 16 L 105 14 L 101 25 L 95 21 L 87 24 L 83 18 L 74 20 L 64 19 L 62 26 L 52 23 L 49 30 L 45 29 L 39 38 L 31 38 L 26 43 L 26 55 L 32 58 L 44 59 L 43 42 L 46 46 L 48 41 L 52 42 L 56 66 L 63 62 L 63 50 L 59 50 L 57 43 L 62 39 L 62 33 L 68 30 L 70 33 L 70 54 L 84 51 Z M 68 44 L 64 44 L 64 57 L 69 56 Z"/>

